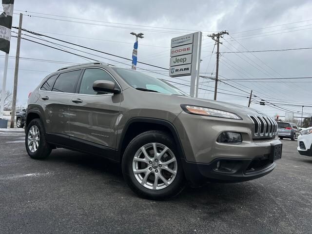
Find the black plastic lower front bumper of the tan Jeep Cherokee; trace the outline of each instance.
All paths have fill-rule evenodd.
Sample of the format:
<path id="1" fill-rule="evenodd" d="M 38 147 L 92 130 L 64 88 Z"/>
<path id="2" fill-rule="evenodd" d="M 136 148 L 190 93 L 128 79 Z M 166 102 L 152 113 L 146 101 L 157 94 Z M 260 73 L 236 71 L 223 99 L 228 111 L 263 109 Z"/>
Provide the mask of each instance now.
<path id="1" fill-rule="evenodd" d="M 232 161 L 234 169 L 230 172 L 222 172 L 216 170 L 217 161 Z M 273 171 L 275 162 L 269 162 L 262 167 L 253 170 L 252 164 L 254 159 L 233 159 L 233 158 L 218 158 L 211 163 L 194 163 L 182 160 L 185 176 L 188 181 L 194 185 L 201 185 L 206 182 L 218 183 L 234 183 L 248 181 L 265 176 Z"/>

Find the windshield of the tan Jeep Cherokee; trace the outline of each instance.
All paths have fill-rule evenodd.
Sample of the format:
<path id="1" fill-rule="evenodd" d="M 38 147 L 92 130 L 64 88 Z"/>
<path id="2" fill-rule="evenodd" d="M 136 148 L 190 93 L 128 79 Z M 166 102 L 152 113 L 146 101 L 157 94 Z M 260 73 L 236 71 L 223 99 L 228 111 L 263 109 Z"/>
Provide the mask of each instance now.
<path id="1" fill-rule="evenodd" d="M 185 94 L 175 86 L 155 77 L 148 76 L 144 73 L 112 67 L 114 71 L 129 85 L 135 89 L 148 89 L 162 94 L 183 95 Z"/>

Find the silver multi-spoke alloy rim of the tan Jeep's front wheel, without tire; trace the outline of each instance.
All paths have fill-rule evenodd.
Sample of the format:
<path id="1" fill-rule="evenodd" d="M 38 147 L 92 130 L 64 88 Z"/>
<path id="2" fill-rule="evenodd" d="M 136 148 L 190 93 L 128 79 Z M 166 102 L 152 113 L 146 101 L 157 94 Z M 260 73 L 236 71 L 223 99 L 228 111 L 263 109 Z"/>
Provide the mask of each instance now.
<path id="1" fill-rule="evenodd" d="M 175 180 L 177 160 L 167 146 L 148 143 L 137 150 L 132 169 L 141 185 L 151 190 L 159 190 L 168 187 Z"/>

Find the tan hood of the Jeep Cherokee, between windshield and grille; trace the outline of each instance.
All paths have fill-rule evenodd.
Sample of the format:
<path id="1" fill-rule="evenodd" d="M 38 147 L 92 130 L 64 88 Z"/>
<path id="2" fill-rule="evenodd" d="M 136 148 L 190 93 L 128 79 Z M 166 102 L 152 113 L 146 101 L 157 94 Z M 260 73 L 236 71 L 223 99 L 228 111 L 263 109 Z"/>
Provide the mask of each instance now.
<path id="1" fill-rule="evenodd" d="M 228 103 L 224 101 L 214 101 L 214 100 L 203 99 L 203 98 L 191 98 L 188 96 L 174 96 L 174 97 L 176 98 L 176 101 L 179 102 L 180 104 L 196 105 L 196 106 L 208 107 L 208 108 L 213 108 L 213 109 L 219 109 L 222 111 L 232 112 L 241 117 L 246 116 L 246 115 L 266 116 L 265 114 L 253 108 L 249 108 L 247 106 L 237 105 L 233 103 Z"/>

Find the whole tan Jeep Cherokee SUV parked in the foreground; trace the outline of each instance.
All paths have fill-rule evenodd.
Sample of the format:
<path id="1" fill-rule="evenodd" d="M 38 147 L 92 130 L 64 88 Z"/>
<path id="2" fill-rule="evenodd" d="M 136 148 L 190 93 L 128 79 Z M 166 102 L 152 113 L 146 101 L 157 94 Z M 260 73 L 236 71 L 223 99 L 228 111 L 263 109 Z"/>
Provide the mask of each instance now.
<path id="1" fill-rule="evenodd" d="M 61 68 L 28 100 L 26 150 L 57 147 L 122 164 L 137 195 L 180 193 L 186 181 L 239 182 L 272 172 L 277 124 L 251 108 L 191 98 L 161 79 L 101 62 Z"/>

